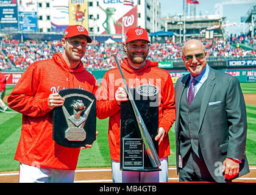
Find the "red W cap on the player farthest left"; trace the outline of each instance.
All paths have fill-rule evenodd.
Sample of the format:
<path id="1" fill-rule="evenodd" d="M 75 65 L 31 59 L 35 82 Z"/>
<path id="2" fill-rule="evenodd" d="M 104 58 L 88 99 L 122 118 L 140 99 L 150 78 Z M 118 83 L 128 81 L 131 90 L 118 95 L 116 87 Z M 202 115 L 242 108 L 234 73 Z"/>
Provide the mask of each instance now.
<path id="1" fill-rule="evenodd" d="M 87 38 L 88 43 L 93 41 L 91 37 L 89 37 L 87 29 L 82 25 L 68 26 L 64 31 L 63 38 L 75 37 L 77 35 L 84 35 Z"/>

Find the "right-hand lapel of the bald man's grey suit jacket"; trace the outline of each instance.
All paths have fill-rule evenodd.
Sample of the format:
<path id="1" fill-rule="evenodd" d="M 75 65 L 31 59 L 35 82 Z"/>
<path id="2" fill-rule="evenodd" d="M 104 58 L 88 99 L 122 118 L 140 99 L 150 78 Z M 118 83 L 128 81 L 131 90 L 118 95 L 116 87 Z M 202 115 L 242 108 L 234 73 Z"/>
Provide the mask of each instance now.
<path id="1" fill-rule="evenodd" d="M 210 68 L 210 67 L 209 67 Z M 210 68 L 208 78 L 205 80 L 205 91 L 204 96 L 202 96 L 202 104 L 199 118 L 199 132 L 201 130 L 202 121 L 204 120 L 205 112 L 208 107 L 210 96 L 212 95 L 213 88 L 215 87 L 215 73 L 212 68 Z"/>

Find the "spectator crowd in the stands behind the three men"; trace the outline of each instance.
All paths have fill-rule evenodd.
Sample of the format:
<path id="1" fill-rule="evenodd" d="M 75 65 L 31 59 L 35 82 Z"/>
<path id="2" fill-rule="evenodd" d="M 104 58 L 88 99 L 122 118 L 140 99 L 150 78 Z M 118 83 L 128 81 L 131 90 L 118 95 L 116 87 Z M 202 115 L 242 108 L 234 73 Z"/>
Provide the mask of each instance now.
<path id="1" fill-rule="evenodd" d="M 256 37 L 255 37 L 256 38 Z M 243 49 L 240 44 L 247 44 L 255 48 L 254 40 L 249 36 L 240 35 L 224 40 L 201 38 L 208 51 L 210 60 L 238 59 L 256 57 L 254 49 Z M 183 43 L 166 40 L 165 43 L 151 43 L 148 59 L 158 62 L 180 61 Z M 1 40 L 2 53 L 0 52 L 0 68 L 10 69 L 10 63 L 18 69 L 24 70 L 27 66 L 38 60 L 51 58 L 55 52 L 62 52 L 61 41 L 35 41 L 35 40 Z M 118 57 L 123 58 L 121 43 L 95 43 L 88 44 L 87 52 L 82 59 L 87 69 L 109 69 L 115 66 L 111 54 L 118 52 Z M 10 62 L 10 63 L 8 63 Z"/>

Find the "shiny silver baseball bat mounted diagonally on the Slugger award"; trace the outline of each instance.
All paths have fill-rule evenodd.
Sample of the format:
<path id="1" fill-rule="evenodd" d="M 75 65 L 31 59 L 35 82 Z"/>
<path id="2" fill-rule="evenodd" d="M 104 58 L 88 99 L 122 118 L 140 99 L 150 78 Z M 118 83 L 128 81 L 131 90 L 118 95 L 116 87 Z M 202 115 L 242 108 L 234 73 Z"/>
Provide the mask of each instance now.
<path id="1" fill-rule="evenodd" d="M 126 93 L 128 94 L 128 98 L 132 104 L 133 113 L 135 114 L 135 118 L 137 119 L 138 127 L 140 129 L 141 138 L 144 143 L 144 148 L 149 156 L 149 160 L 151 161 L 151 164 L 153 168 L 157 168 L 161 165 L 157 151 L 155 150 L 154 143 L 151 139 L 151 136 L 149 135 L 148 129 L 146 125 L 144 124 L 144 121 L 140 115 L 140 112 L 138 111 L 138 108 L 133 100 L 132 94 L 130 93 L 129 87 L 126 82 L 126 78 L 124 77 L 124 73 L 121 69 L 121 66 L 119 64 L 119 61 L 116 57 L 117 53 L 112 54 L 112 56 L 115 59 L 116 64 L 118 65 L 119 72 L 123 78 L 124 81 L 124 87 L 126 88 Z"/>

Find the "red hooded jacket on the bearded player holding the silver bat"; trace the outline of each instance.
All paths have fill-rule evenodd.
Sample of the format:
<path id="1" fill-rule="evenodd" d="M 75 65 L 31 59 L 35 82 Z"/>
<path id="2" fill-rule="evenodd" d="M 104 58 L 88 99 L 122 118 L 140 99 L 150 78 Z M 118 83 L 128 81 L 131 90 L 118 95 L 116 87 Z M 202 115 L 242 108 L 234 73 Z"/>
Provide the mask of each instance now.
<path id="1" fill-rule="evenodd" d="M 137 88 L 149 83 L 158 88 L 159 93 L 159 127 L 163 127 L 166 136 L 158 147 L 159 158 L 170 155 L 168 131 L 176 119 L 174 86 L 170 74 L 158 68 L 158 62 L 146 60 L 146 65 L 140 69 L 133 69 L 127 58 L 123 60 L 121 68 L 129 88 Z M 120 107 L 116 104 L 115 91 L 124 87 L 118 68 L 110 69 L 105 73 L 99 89 L 97 116 L 99 119 L 109 117 L 108 143 L 110 158 L 120 160 Z"/>

